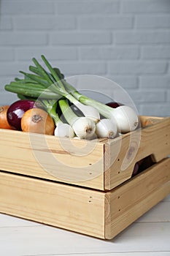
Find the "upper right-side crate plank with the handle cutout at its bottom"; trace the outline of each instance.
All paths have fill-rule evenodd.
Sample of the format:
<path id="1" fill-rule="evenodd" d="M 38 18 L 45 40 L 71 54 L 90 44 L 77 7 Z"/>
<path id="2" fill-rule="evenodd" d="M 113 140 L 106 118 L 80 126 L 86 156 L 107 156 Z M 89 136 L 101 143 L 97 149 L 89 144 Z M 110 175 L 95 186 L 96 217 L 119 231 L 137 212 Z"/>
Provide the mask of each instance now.
<path id="1" fill-rule="evenodd" d="M 170 154 L 170 118 L 144 117 L 142 124 L 147 127 L 105 143 L 104 189 L 131 178 L 135 163 L 144 157 L 159 162 Z"/>

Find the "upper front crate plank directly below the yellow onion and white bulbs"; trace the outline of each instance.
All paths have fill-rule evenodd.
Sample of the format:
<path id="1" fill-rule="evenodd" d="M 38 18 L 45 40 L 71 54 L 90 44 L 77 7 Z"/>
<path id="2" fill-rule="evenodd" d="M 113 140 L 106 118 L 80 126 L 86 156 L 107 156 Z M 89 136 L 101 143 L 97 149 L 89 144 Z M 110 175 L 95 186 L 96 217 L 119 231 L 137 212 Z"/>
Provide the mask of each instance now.
<path id="1" fill-rule="evenodd" d="M 0 170 L 104 189 L 104 143 L 0 129 Z"/>

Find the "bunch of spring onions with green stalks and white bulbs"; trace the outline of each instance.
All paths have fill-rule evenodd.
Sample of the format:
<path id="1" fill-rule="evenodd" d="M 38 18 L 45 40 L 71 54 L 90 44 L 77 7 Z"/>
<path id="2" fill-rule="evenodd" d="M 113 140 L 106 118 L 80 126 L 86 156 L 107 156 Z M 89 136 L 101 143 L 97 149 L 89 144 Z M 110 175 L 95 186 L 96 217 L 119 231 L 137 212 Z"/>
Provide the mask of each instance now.
<path id="1" fill-rule="evenodd" d="M 53 68 L 42 56 L 47 70 L 33 58 L 35 66 L 30 66 L 31 73 L 22 72 L 23 79 L 15 78 L 5 86 L 7 91 L 18 94 L 20 98 L 37 99 L 42 102 L 47 113 L 55 121 L 55 135 L 59 137 L 91 139 L 94 135 L 101 138 L 115 138 L 118 132 L 130 132 L 138 125 L 138 116 L 128 106 L 110 108 L 94 99 L 86 97 L 78 92 L 74 86 L 64 79 L 58 68 Z M 82 113 L 77 114 L 69 107 L 72 102 Z M 57 105 L 66 123 L 61 121 L 57 113 Z M 100 115 L 104 116 L 100 120 Z"/>

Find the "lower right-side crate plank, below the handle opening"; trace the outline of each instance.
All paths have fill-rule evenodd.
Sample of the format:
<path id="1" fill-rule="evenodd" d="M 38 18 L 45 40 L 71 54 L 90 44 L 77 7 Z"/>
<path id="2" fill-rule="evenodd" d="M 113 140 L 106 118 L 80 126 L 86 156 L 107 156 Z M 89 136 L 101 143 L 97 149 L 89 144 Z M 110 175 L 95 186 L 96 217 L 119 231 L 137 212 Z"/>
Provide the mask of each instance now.
<path id="1" fill-rule="evenodd" d="M 111 239 L 170 193 L 170 158 L 126 181 L 105 197 L 105 238 Z"/>

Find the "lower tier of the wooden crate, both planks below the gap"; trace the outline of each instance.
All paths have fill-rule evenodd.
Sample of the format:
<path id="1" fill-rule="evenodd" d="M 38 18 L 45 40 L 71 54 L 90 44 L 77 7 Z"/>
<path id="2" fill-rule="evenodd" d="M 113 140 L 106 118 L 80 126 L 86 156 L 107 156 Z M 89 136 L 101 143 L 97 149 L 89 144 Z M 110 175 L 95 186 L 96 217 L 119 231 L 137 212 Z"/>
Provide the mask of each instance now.
<path id="1" fill-rule="evenodd" d="M 110 192 L 0 172 L 0 212 L 111 239 L 170 192 L 164 159 Z"/>

